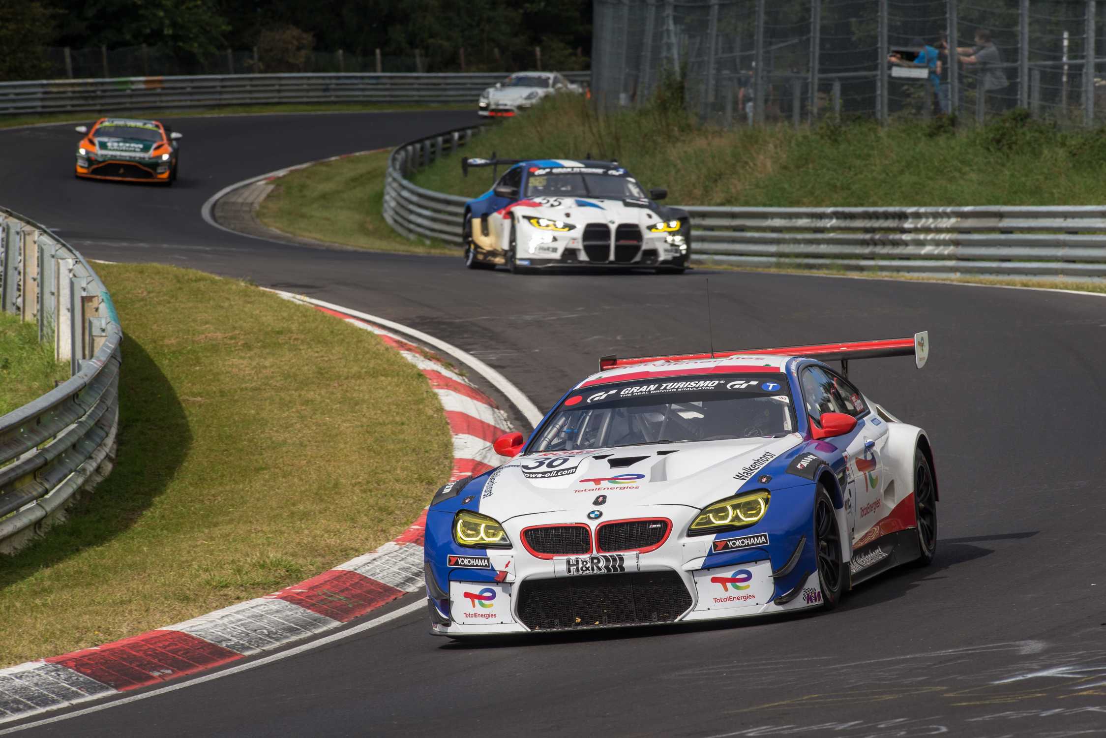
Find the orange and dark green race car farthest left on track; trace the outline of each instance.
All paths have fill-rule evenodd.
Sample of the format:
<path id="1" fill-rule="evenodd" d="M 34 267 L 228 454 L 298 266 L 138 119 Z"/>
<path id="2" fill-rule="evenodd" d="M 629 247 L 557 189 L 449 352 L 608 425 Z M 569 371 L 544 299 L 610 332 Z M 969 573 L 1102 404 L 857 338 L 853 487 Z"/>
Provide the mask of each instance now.
<path id="1" fill-rule="evenodd" d="M 166 186 L 177 178 L 180 138 L 167 125 L 136 118 L 100 118 L 92 126 L 79 125 L 85 137 L 77 144 L 77 177 L 156 181 Z"/>

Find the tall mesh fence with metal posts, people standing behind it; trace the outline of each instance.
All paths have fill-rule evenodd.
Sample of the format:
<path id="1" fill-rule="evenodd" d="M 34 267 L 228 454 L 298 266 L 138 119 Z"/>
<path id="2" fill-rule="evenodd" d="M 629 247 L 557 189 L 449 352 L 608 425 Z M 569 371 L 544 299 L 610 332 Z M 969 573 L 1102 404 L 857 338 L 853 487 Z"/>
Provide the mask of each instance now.
<path id="1" fill-rule="evenodd" d="M 1013 107 L 1093 125 L 1106 118 L 1104 14 L 1095 0 L 595 0 L 593 93 L 616 110 L 678 82 L 690 112 L 727 127 L 982 123 Z"/>

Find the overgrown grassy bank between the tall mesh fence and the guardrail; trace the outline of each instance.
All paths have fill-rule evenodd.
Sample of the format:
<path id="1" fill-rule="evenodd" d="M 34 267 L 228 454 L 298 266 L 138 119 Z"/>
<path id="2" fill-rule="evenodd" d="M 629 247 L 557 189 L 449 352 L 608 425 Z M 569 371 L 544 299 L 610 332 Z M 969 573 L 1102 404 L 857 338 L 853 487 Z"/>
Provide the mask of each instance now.
<path id="1" fill-rule="evenodd" d="M 467 156 L 613 158 L 669 201 L 752 207 L 1099 205 L 1106 128 L 1062 131 L 1022 111 L 985 126 L 868 121 L 722 131 L 661 106 L 597 116 L 552 97 L 478 137 Z M 461 177 L 457 157 L 417 174 L 429 189 L 472 197 L 491 170 Z"/>

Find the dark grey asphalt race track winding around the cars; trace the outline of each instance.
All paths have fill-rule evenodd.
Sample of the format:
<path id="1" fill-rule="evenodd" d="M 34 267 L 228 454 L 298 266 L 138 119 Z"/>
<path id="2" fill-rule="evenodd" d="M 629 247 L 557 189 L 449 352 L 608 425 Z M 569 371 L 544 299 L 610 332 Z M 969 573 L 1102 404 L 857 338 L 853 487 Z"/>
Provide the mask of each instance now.
<path id="1" fill-rule="evenodd" d="M 455 644 L 428 635 L 419 610 L 20 735 L 1106 734 L 1106 299 L 701 270 L 515 277 L 469 272 L 460 257 L 271 243 L 200 219 L 237 180 L 471 117 L 182 118 L 171 189 L 75 180 L 71 126 L 0 131 L 0 204 L 91 258 L 250 278 L 406 323 L 488 362 L 542 408 L 602 354 L 702 350 L 706 277 L 719 347 L 928 330 L 925 370 L 876 360 L 854 362 L 852 376 L 930 433 L 933 565 L 877 578 L 830 613 L 716 625 Z"/>

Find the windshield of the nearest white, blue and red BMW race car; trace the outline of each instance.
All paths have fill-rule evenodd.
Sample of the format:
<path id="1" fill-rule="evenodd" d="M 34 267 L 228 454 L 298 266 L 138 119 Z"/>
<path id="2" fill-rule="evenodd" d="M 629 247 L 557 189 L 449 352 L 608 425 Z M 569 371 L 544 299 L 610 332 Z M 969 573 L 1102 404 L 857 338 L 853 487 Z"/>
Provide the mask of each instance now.
<path id="1" fill-rule="evenodd" d="M 783 374 L 708 374 L 573 392 L 528 453 L 760 438 L 793 433 Z"/>

